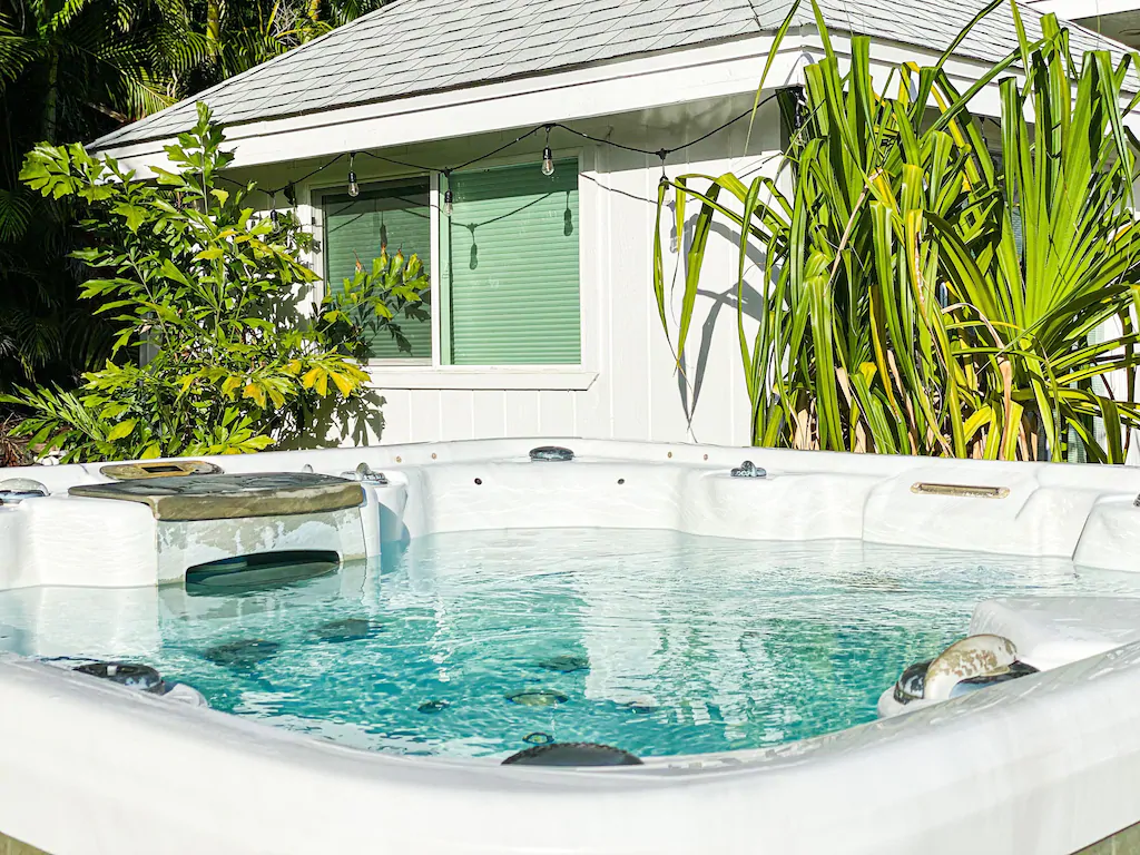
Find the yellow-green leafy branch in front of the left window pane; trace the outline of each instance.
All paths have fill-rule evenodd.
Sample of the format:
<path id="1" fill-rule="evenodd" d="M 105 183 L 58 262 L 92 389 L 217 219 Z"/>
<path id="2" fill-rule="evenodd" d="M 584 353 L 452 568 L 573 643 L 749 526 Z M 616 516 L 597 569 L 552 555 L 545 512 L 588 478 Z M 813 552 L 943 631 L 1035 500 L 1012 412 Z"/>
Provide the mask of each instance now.
<path id="1" fill-rule="evenodd" d="M 345 278 L 340 291 L 326 291 L 314 314 L 318 331 L 329 342 L 363 361 L 368 358 L 372 342 L 382 334 L 390 335 L 401 351 L 410 352 L 400 319 L 427 320 L 430 301 L 431 284 L 420 256 L 413 253 L 405 261 L 404 253 L 397 251 L 389 258 L 381 247 L 372 270 L 357 259 L 352 278 Z"/>

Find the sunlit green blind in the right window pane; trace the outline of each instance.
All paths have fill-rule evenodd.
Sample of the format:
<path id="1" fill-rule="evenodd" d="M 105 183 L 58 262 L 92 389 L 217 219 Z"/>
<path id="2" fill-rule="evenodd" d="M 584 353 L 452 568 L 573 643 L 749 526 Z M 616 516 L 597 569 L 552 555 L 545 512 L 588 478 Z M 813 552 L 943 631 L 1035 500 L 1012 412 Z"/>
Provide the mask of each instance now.
<path id="1" fill-rule="evenodd" d="M 443 222 L 450 365 L 577 365 L 578 162 L 462 172 Z"/>

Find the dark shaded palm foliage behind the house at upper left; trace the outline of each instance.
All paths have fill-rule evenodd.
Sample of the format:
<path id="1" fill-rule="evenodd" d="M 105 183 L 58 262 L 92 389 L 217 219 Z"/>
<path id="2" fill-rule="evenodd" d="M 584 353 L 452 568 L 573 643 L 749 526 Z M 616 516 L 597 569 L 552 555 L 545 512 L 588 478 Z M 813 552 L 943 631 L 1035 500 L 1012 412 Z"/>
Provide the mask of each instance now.
<path id="1" fill-rule="evenodd" d="M 109 355 L 79 299 L 82 199 L 21 184 L 38 142 L 93 139 L 384 0 L 0 0 L 0 390 L 71 385 Z"/>

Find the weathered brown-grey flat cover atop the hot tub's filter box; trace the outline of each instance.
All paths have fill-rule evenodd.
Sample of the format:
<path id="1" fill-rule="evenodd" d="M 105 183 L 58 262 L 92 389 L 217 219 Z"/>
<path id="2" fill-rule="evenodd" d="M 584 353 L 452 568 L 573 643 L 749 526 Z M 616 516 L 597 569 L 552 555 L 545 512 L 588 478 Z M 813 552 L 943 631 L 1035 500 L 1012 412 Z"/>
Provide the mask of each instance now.
<path id="1" fill-rule="evenodd" d="M 359 483 L 312 472 L 180 475 L 161 480 L 80 484 L 68 490 L 85 498 L 140 502 L 156 520 L 231 520 L 288 516 L 358 507 Z"/>

